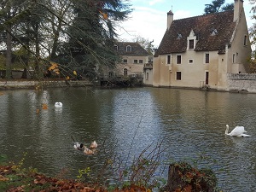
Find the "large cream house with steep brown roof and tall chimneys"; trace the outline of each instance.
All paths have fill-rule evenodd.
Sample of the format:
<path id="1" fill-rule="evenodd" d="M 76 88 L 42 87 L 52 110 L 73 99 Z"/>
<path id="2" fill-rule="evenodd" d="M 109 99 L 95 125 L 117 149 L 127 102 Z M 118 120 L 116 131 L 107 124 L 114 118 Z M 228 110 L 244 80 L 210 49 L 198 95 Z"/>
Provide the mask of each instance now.
<path id="1" fill-rule="evenodd" d="M 246 73 L 251 54 L 243 1 L 235 9 L 173 20 L 153 60 L 153 85 L 227 89 L 228 73 Z"/>

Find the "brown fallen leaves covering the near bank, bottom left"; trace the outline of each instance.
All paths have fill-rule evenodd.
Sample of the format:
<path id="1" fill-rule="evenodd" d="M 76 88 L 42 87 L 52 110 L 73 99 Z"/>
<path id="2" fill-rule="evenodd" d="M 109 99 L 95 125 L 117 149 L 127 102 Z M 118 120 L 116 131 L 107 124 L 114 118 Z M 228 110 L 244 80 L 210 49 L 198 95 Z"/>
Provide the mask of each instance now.
<path id="1" fill-rule="evenodd" d="M 51 192 L 51 191 L 68 191 L 68 192 L 107 192 L 101 184 L 86 184 L 77 182 L 73 179 L 58 179 L 55 177 L 46 177 L 36 172 L 16 172 L 14 166 L 0 166 L 0 191 L 8 192 Z M 9 177 L 19 176 L 17 181 L 10 180 Z M 6 183 L 8 189 L 3 189 L 1 183 Z M 19 183 L 19 186 L 14 183 Z M 3 184 L 4 185 L 4 184 Z M 15 186 L 15 187 L 14 187 Z M 124 189 L 114 189 L 114 192 L 151 192 L 150 189 L 131 185 Z"/>

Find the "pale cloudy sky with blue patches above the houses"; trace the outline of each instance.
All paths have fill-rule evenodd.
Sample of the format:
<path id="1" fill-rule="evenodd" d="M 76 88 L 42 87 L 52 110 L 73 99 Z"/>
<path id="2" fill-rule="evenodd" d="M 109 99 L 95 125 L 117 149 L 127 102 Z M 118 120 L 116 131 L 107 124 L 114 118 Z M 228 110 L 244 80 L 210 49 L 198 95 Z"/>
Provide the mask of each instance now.
<path id="1" fill-rule="evenodd" d="M 234 0 L 226 0 L 225 3 L 233 3 Z M 154 40 L 154 46 L 158 47 L 166 32 L 167 12 L 172 10 L 174 20 L 196 15 L 203 15 L 205 4 L 212 0 L 130 0 L 134 11 L 130 19 L 120 24 L 118 33 L 122 41 L 133 41 L 141 36 L 150 41 Z M 247 16 L 247 26 L 253 24 L 250 10 L 252 5 L 249 0 L 244 0 L 244 9 Z"/>

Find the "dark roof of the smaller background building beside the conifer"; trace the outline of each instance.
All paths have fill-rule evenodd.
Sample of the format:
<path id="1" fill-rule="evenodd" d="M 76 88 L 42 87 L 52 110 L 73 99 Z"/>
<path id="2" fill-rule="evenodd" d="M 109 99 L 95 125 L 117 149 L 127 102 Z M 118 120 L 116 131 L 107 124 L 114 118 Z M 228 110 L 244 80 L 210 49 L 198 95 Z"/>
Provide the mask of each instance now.
<path id="1" fill-rule="evenodd" d="M 148 55 L 148 52 L 137 42 L 116 42 L 119 55 Z M 131 51 L 126 51 L 126 47 L 130 45 Z"/>

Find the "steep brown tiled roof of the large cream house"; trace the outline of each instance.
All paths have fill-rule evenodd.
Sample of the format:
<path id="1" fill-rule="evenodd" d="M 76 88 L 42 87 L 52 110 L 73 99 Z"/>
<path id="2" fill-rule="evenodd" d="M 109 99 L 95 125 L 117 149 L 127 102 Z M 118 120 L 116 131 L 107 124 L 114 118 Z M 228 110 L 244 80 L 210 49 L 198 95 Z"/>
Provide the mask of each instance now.
<path id="1" fill-rule="evenodd" d="M 181 53 L 187 49 L 187 37 L 191 30 L 195 32 L 198 42 L 195 50 L 218 50 L 224 53 L 225 44 L 230 43 L 236 22 L 233 22 L 234 11 L 189 17 L 173 20 L 169 30 L 166 30 L 155 55 Z M 215 30 L 216 35 L 211 35 Z M 180 34 L 181 38 L 177 38 Z"/>

